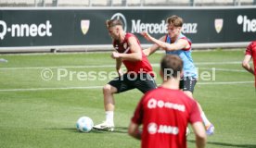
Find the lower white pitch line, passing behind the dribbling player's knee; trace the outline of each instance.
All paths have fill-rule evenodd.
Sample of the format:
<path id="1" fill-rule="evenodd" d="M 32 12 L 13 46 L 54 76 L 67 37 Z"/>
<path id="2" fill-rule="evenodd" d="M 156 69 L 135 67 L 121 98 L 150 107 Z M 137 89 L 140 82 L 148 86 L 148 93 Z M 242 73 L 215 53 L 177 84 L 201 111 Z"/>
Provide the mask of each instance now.
<path id="1" fill-rule="evenodd" d="M 253 83 L 253 82 L 254 81 L 198 82 L 198 85 L 231 85 L 231 84 L 247 84 L 247 83 Z M 103 86 L 4 89 L 4 90 L 0 90 L 0 92 L 54 91 L 54 90 L 90 90 L 90 89 L 100 89 L 100 88 L 103 88 Z"/>

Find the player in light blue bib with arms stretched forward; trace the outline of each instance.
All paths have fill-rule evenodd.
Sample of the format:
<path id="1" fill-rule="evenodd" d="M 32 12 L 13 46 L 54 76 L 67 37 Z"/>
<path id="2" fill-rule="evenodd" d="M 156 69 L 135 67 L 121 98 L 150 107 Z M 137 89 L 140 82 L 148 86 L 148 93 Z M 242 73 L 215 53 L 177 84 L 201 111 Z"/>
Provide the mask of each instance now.
<path id="1" fill-rule="evenodd" d="M 151 37 L 147 32 L 141 34 L 149 41 L 154 43 L 151 47 L 144 50 L 147 56 L 150 56 L 159 48 L 166 51 L 167 55 L 179 56 L 184 63 L 184 75 L 180 82 L 180 89 L 184 91 L 189 97 L 193 98 L 193 92 L 198 80 L 197 68 L 193 63 L 191 56 L 192 47 L 191 41 L 181 32 L 183 26 L 183 19 L 177 16 L 172 16 L 167 19 L 168 34 L 162 36 L 160 40 Z M 214 133 L 214 126 L 205 116 L 201 105 L 198 104 L 200 115 L 205 125 L 206 133 L 212 135 Z"/>

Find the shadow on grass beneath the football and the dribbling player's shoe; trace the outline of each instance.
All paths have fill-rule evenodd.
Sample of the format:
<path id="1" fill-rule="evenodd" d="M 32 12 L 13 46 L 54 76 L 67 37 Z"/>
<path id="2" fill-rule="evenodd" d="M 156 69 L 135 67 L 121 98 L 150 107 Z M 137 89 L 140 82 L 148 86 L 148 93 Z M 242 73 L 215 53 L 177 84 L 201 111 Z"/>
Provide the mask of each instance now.
<path id="1" fill-rule="evenodd" d="M 46 130 L 65 130 L 69 132 L 77 132 L 80 133 L 79 130 L 75 128 L 48 128 Z M 115 127 L 114 131 L 108 131 L 108 130 L 99 130 L 99 129 L 92 129 L 90 132 L 92 133 L 127 133 L 128 128 L 127 127 Z"/>

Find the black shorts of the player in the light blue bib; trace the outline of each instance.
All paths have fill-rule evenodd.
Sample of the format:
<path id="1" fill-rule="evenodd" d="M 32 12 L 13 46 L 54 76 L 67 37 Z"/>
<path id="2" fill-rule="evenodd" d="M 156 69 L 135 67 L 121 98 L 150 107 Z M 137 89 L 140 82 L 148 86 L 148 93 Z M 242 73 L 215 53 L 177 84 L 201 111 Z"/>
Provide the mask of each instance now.
<path id="1" fill-rule="evenodd" d="M 189 91 L 193 93 L 196 83 L 196 78 L 184 77 L 180 80 L 180 89 L 182 89 L 183 91 Z"/>

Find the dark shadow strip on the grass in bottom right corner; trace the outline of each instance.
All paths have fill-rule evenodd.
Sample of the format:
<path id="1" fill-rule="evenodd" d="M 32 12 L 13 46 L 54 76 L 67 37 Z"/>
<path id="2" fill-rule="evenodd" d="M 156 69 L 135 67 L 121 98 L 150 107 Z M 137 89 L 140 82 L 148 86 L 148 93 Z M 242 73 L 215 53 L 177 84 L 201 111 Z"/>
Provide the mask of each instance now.
<path id="1" fill-rule="evenodd" d="M 187 142 L 196 142 L 193 140 L 187 140 Z M 225 142 L 207 142 L 207 145 L 219 145 L 222 147 L 243 147 L 243 148 L 255 148 L 256 144 L 235 144 L 235 143 L 225 143 Z"/>

